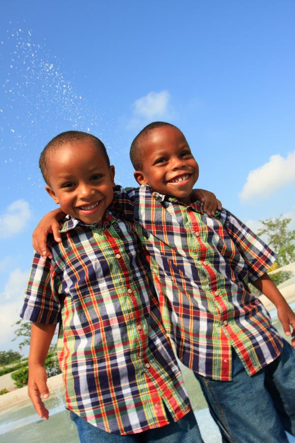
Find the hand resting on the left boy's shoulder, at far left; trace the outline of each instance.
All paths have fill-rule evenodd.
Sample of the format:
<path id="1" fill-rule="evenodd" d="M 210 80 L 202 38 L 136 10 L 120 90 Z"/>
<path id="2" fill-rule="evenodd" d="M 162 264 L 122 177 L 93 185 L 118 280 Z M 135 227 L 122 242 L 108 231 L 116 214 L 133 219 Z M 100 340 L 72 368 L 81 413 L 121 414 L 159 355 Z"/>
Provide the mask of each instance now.
<path id="1" fill-rule="evenodd" d="M 47 247 L 48 234 L 53 234 L 55 241 L 58 243 L 61 242 L 59 229 L 61 228 L 60 221 L 63 220 L 64 217 L 65 214 L 60 208 L 49 212 L 39 221 L 39 224 L 32 234 L 33 248 L 44 258 L 52 258 L 52 253 Z"/>

